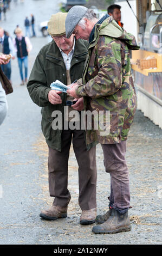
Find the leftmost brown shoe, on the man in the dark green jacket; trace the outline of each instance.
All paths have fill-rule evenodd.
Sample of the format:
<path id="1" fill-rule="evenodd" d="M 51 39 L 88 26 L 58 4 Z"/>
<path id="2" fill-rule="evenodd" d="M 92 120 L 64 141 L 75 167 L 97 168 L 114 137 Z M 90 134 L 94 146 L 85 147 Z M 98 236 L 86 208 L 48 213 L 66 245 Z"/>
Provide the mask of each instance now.
<path id="1" fill-rule="evenodd" d="M 55 221 L 57 218 L 66 218 L 67 209 L 67 207 L 53 205 L 51 208 L 41 211 L 40 217 L 49 221 Z"/>

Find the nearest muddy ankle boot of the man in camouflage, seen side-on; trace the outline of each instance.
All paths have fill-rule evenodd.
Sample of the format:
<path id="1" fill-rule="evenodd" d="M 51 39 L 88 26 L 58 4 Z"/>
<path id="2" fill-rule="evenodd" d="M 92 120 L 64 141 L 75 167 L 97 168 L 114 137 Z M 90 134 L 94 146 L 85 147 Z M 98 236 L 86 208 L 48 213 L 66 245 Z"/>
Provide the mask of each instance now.
<path id="1" fill-rule="evenodd" d="M 131 224 L 128 217 L 128 211 L 125 214 L 119 214 L 112 209 L 111 216 L 101 225 L 93 227 L 92 232 L 95 234 L 114 234 L 131 230 Z"/>

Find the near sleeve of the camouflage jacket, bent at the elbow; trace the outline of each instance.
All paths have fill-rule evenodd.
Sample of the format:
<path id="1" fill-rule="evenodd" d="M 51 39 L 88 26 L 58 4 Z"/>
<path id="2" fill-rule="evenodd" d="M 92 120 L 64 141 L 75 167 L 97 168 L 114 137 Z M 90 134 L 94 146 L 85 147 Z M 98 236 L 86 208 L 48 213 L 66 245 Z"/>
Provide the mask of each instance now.
<path id="1" fill-rule="evenodd" d="M 120 44 L 99 41 L 90 57 L 88 72 L 96 72 L 96 76 L 76 89 L 78 96 L 99 98 L 116 93 L 122 84 Z"/>

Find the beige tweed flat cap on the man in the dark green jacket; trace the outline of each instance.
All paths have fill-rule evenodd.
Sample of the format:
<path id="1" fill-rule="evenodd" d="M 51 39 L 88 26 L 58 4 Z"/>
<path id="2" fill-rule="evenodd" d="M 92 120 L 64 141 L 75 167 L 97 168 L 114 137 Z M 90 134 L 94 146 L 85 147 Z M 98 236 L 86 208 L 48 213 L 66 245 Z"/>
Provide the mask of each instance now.
<path id="1" fill-rule="evenodd" d="M 65 34 L 65 19 L 67 13 L 59 13 L 53 14 L 48 21 L 47 31 L 50 35 L 64 35 Z"/>

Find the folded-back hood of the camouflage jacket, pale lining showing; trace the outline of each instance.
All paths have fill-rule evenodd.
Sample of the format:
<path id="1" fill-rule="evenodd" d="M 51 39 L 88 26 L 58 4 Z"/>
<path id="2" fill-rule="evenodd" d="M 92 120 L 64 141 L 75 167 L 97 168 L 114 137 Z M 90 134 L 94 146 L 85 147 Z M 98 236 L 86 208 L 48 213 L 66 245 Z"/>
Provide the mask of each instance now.
<path id="1" fill-rule="evenodd" d="M 139 46 L 137 45 L 134 35 L 126 32 L 123 28 L 121 28 L 112 16 L 109 16 L 101 24 L 96 23 L 94 40 L 96 40 L 96 38 L 98 37 L 98 32 L 99 35 L 108 35 L 112 38 L 124 41 L 130 50 L 139 49 Z"/>

